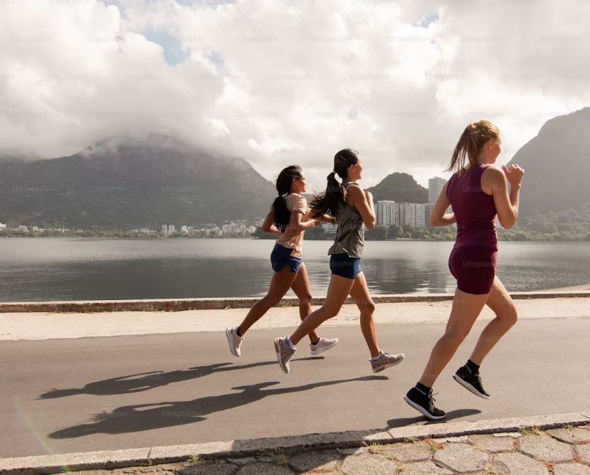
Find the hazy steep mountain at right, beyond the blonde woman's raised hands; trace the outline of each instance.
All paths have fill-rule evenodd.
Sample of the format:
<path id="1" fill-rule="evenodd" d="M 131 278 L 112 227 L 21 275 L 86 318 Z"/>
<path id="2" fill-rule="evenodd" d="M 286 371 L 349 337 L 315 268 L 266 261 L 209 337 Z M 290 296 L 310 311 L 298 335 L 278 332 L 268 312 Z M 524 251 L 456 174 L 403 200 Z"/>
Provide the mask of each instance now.
<path id="1" fill-rule="evenodd" d="M 507 164 L 525 169 L 520 209 L 560 211 L 590 203 L 590 107 L 549 119 Z"/>

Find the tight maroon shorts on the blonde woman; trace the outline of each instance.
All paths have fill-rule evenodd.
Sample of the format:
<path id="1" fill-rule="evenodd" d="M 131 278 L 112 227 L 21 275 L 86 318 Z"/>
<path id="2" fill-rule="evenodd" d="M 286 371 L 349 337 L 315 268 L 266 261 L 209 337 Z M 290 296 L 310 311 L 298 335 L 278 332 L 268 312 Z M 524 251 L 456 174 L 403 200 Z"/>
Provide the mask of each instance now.
<path id="1" fill-rule="evenodd" d="M 493 247 L 455 247 L 448 258 L 448 268 L 460 291 L 481 295 L 492 292 L 496 262 L 497 250 Z"/>

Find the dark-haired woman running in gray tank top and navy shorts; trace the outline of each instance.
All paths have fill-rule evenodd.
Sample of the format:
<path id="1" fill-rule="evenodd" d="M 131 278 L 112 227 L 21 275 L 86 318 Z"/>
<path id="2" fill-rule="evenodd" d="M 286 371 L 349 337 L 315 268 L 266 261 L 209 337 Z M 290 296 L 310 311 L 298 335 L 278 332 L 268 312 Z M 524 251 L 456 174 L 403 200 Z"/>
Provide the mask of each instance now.
<path id="1" fill-rule="evenodd" d="M 336 179 L 342 178 L 342 184 Z M 362 177 L 359 153 L 351 149 L 339 151 L 334 156 L 334 171 L 327 177 L 324 193 L 314 195 L 311 217 L 328 215 L 337 223 L 336 240 L 330 247 L 332 277 L 325 304 L 308 315 L 289 338 L 275 338 L 275 351 L 280 368 L 289 373 L 289 362 L 295 355 L 295 345 L 317 329 L 324 321 L 336 316 L 350 295 L 361 312 L 361 329 L 364 335 L 374 373 L 401 363 L 404 354 L 390 355 L 379 349 L 375 336 L 373 312 L 375 304 L 369 295 L 367 280 L 359 266 L 364 247 L 364 228 L 375 227 L 373 196 L 357 183 Z"/>

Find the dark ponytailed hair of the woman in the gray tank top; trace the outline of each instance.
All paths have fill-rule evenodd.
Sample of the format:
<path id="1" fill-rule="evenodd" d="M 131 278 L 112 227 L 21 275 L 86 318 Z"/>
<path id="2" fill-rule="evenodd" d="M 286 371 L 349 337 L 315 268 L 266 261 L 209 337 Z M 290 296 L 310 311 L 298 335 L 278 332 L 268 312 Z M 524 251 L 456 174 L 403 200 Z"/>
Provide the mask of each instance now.
<path id="1" fill-rule="evenodd" d="M 340 150 L 334 155 L 334 171 L 327 176 L 328 184 L 325 191 L 322 193 L 314 193 L 310 208 L 312 209 L 312 216 L 317 218 L 321 215 L 329 215 L 333 218 L 339 206 L 346 203 L 346 190 L 339 181 L 336 175 L 344 179 L 348 173 L 348 167 L 357 165 L 359 163 L 359 152 L 352 149 Z"/>

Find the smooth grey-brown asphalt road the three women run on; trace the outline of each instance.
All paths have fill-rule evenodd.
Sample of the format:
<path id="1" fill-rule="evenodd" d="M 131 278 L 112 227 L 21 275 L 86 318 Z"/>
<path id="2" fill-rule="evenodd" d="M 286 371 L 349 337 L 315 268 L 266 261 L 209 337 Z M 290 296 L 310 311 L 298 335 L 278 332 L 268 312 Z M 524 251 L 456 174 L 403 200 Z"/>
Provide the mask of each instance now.
<path id="1" fill-rule="evenodd" d="M 451 378 L 482 328 L 435 386 L 447 420 L 590 409 L 590 318 L 520 321 L 482 367 L 490 400 Z M 0 457 L 423 423 L 402 397 L 443 329 L 377 326 L 381 348 L 406 354 L 378 375 L 357 327 L 325 329 L 340 342 L 323 357 L 300 343 L 289 375 L 276 363 L 273 338 L 286 333 L 276 329 L 248 332 L 242 358 L 222 332 L 2 341 Z"/>

